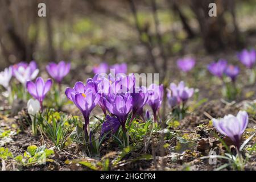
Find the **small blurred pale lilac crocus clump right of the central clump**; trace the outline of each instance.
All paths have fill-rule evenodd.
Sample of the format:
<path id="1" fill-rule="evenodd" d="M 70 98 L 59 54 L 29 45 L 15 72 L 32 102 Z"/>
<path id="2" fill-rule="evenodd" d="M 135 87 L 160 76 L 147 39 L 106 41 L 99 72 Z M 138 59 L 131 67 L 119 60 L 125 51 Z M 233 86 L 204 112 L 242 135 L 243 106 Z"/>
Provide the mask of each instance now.
<path id="1" fill-rule="evenodd" d="M 170 84 L 170 89 L 168 89 L 167 100 L 168 105 L 172 109 L 172 114 L 175 117 L 182 119 L 188 109 L 187 101 L 193 96 L 194 89 L 185 86 L 184 81 L 179 82 L 178 85 L 175 83 Z"/>

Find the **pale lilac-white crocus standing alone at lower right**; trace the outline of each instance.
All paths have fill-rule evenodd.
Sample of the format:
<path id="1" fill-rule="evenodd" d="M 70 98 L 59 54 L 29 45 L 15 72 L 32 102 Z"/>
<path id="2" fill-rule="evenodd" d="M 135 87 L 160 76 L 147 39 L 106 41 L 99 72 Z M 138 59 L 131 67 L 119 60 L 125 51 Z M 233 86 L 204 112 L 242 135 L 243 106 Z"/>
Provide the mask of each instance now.
<path id="1" fill-rule="evenodd" d="M 240 148 L 241 137 L 248 124 L 246 111 L 239 111 L 237 116 L 225 115 L 221 119 L 212 119 L 213 126 L 221 133 L 232 139 L 236 147 Z"/>

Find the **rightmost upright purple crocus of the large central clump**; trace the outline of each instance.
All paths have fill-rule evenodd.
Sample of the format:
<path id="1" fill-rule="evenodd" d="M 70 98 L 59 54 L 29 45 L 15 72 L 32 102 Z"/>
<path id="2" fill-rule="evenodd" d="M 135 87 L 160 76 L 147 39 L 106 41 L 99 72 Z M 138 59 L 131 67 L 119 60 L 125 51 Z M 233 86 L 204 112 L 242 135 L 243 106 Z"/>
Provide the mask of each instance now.
<path id="1" fill-rule="evenodd" d="M 154 121 L 156 122 L 156 112 L 159 110 L 163 100 L 163 85 L 151 84 L 148 86 L 147 92 L 147 104 L 150 105 L 154 114 Z"/>

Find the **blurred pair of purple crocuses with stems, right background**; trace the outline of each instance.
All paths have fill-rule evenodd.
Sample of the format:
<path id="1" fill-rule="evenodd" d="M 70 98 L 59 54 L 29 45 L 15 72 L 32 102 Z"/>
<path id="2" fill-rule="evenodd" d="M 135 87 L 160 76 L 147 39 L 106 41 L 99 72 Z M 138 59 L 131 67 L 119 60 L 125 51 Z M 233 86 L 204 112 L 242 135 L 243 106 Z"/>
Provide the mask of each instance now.
<path id="1" fill-rule="evenodd" d="M 239 91 L 236 80 L 240 73 L 240 68 L 236 65 L 228 64 L 226 60 L 220 59 L 217 62 L 209 64 L 208 70 L 212 75 L 220 78 L 224 97 L 230 101 L 235 100 Z"/>

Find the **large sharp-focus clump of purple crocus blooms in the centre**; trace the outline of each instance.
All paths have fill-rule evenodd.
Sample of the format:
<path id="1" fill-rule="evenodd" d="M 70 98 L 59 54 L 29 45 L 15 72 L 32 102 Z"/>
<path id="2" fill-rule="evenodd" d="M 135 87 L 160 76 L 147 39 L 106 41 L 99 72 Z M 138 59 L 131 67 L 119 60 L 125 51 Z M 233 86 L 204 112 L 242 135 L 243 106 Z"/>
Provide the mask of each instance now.
<path id="1" fill-rule="evenodd" d="M 135 117 L 143 118 L 143 106 L 146 104 L 151 106 L 156 121 L 156 114 L 163 99 L 163 85 L 152 84 L 148 88 L 136 86 L 134 74 L 109 74 L 108 77 L 96 74 L 93 78 L 88 78 L 86 84 L 76 82 L 73 88 L 65 90 L 65 94 L 84 116 L 84 131 L 88 137 L 86 129 L 90 113 L 97 105 L 105 114 L 106 121 L 102 125 L 102 133 L 115 133 L 119 126 L 122 127 L 123 133 L 126 133 L 126 123 L 132 122 Z"/>

